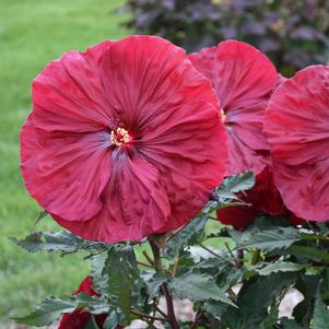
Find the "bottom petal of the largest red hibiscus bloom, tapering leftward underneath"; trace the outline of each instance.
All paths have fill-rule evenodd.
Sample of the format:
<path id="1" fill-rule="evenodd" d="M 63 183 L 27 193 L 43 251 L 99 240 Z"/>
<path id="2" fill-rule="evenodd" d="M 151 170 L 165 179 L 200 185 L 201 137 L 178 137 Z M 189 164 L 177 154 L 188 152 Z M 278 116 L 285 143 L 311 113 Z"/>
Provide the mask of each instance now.
<path id="1" fill-rule="evenodd" d="M 160 184 L 158 169 L 143 160 L 114 154 L 114 171 L 102 199 L 102 211 L 85 222 L 58 223 L 77 235 L 110 243 L 138 240 L 161 232 L 168 221 L 171 204 Z M 174 222 L 175 225 L 175 222 Z"/>

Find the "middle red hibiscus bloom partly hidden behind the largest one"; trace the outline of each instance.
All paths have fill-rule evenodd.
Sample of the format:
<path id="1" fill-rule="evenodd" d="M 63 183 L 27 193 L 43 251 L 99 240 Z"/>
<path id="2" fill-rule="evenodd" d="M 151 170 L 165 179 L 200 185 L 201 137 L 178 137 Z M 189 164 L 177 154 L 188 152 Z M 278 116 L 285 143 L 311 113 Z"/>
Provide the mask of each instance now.
<path id="1" fill-rule="evenodd" d="M 280 83 L 271 61 L 252 46 L 227 40 L 191 54 L 196 68 L 212 82 L 224 111 L 228 134 L 228 171 L 234 175 L 269 164 L 262 133 L 268 101 Z"/>

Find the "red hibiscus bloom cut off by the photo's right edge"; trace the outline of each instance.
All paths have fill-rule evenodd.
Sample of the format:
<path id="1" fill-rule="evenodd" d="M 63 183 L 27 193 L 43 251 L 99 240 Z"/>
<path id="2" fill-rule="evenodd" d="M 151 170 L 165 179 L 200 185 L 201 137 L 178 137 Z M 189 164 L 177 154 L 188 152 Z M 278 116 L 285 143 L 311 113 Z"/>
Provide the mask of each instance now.
<path id="1" fill-rule="evenodd" d="M 329 220 L 329 67 L 306 68 L 273 94 L 265 132 L 274 179 L 299 218 Z"/>

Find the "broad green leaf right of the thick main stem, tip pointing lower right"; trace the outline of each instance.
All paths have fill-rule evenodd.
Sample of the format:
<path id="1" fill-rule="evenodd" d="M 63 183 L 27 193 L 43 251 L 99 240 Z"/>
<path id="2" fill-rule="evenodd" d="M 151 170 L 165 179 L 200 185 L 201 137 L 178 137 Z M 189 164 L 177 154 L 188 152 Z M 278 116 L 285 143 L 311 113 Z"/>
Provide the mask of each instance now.
<path id="1" fill-rule="evenodd" d="M 168 287 L 180 298 L 188 298 L 193 302 L 214 299 L 235 306 L 215 284 L 214 279 L 205 273 L 189 272 L 174 278 L 169 281 Z"/>

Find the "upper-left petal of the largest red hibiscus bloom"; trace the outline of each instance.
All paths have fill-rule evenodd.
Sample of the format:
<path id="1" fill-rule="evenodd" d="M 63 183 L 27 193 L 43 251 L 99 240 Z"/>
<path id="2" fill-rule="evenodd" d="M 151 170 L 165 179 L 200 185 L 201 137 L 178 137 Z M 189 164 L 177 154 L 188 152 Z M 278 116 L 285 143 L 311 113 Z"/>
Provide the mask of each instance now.
<path id="1" fill-rule="evenodd" d="M 86 52 L 63 54 L 33 81 L 35 127 L 47 131 L 98 131 L 108 127 L 111 109 L 99 79 L 103 42 Z"/>

